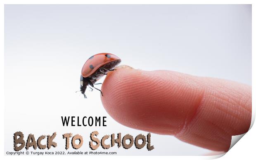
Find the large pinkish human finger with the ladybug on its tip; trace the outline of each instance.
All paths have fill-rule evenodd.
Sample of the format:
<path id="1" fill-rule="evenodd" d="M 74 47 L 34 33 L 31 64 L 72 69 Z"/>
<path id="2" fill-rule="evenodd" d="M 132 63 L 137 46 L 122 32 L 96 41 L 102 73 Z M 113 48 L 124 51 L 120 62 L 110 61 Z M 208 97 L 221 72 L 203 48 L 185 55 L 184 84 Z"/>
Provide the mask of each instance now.
<path id="1" fill-rule="evenodd" d="M 251 124 L 251 86 L 229 80 L 119 66 L 102 92 L 104 108 L 122 125 L 213 151 L 227 152 L 231 136 Z"/>

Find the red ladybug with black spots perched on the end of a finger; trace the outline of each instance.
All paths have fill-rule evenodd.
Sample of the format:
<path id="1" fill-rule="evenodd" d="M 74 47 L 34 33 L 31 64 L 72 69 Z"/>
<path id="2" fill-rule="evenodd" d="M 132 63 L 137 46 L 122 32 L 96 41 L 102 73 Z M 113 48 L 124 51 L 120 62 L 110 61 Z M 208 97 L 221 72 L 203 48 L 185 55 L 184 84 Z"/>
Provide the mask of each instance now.
<path id="1" fill-rule="evenodd" d="M 103 75 L 107 75 L 110 71 L 114 71 L 115 66 L 121 62 L 121 59 L 111 53 L 99 53 L 91 56 L 83 65 L 81 78 L 80 78 L 80 91 L 85 98 L 85 90 L 88 85 L 95 88 L 94 85 L 101 83 L 95 83 Z M 90 87 L 91 90 L 93 90 Z M 97 88 L 95 88 L 97 89 Z M 97 89 L 100 91 L 100 89 Z M 102 94 L 103 96 L 103 94 Z"/>

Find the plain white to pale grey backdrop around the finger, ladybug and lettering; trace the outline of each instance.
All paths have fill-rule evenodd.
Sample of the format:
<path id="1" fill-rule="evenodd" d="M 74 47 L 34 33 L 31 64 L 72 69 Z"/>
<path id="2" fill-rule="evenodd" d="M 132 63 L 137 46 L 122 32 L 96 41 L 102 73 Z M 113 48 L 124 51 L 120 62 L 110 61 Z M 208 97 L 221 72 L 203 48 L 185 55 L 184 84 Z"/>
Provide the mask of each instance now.
<path id="1" fill-rule="evenodd" d="M 94 130 L 100 136 L 147 133 L 112 120 L 99 92 L 87 92 L 86 100 L 74 93 L 79 90 L 83 63 L 99 52 L 116 54 L 122 64 L 133 68 L 251 85 L 251 5 L 6 6 L 5 151 L 13 150 L 12 134 L 18 130 L 25 136 L 57 132 L 59 147 L 52 151 L 63 151 L 61 134 L 66 132 L 82 134 L 85 142 Z M 62 115 L 107 116 L 108 127 L 62 127 Z M 152 144 L 155 149 L 150 152 L 116 147 L 109 151 L 118 155 L 210 152 L 173 136 L 152 134 Z M 83 149 L 90 151 L 86 143 Z"/>

